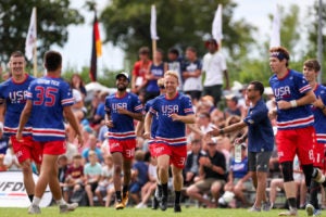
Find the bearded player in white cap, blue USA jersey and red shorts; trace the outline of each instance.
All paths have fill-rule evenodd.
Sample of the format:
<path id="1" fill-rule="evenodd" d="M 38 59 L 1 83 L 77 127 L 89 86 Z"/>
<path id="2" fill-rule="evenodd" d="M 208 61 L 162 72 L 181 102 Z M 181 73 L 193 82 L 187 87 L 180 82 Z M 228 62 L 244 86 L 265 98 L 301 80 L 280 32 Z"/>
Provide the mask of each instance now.
<path id="1" fill-rule="evenodd" d="M 135 93 L 127 92 L 130 81 L 127 73 L 117 74 L 115 79 L 117 91 L 105 99 L 105 125 L 109 128 L 109 149 L 114 164 L 115 208 L 123 209 L 128 203 L 130 169 L 136 149 L 134 119 L 142 120 L 142 105 Z"/>

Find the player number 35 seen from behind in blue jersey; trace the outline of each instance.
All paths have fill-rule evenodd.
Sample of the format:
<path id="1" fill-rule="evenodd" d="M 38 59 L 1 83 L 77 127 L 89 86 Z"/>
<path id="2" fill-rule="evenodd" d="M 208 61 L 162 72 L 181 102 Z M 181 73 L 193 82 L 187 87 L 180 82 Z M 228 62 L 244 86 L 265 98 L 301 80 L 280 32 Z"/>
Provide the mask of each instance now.
<path id="1" fill-rule="evenodd" d="M 58 180 L 58 157 L 64 154 L 65 130 L 63 113 L 77 135 L 80 145 L 83 138 L 72 112 L 74 99 L 67 82 L 61 76 L 62 56 L 59 52 L 48 51 L 45 54 L 47 75 L 30 82 L 26 105 L 21 115 L 16 138 L 22 140 L 22 131 L 29 116 L 33 125 L 33 139 L 42 148 L 42 163 L 39 179 L 35 187 L 35 196 L 28 209 L 29 214 L 40 214 L 39 203 L 49 184 L 52 195 L 59 204 L 60 213 L 74 210 L 78 204 L 67 204 L 61 193 Z"/>

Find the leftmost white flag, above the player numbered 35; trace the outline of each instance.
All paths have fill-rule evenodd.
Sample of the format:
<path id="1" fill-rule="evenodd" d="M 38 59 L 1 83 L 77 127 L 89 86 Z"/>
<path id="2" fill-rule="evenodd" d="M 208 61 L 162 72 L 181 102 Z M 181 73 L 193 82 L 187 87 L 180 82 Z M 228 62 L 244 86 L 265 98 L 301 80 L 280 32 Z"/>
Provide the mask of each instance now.
<path id="1" fill-rule="evenodd" d="M 36 47 L 37 31 L 36 31 L 36 8 L 33 8 L 29 21 L 28 33 L 25 41 L 25 55 L 28 61 L 33 59 L 33 51 Z"/>

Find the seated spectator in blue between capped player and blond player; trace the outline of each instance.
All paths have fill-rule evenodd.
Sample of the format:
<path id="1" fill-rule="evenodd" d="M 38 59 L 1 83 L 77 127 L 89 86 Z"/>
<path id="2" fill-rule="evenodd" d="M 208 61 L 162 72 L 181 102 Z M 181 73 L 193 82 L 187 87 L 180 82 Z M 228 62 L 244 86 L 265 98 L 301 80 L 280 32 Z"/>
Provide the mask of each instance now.
<path id="1" fill-rule="evenodd" d="M 143 184 L 148 181 L 148 165 L 143 162 L 143 151 L 136 151 L 135 162 L 131 168 L 130 196 L 136 204 L 140 202 L 139 193 Z"/>

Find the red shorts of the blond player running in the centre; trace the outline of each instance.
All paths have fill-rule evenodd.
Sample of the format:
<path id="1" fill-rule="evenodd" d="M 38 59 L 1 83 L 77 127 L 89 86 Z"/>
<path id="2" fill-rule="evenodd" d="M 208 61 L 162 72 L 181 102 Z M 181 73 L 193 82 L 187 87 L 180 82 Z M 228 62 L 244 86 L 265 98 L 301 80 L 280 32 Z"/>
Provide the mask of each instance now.
<path id="1" fill-rule="evenodd" d="M 162 155 L 170 156 L 170 164 L 178 168 L 185 168 L 187 159 L 187 145 L 173 146 L 166 143 L 155 143 L 153 152 L 156 157 Z"/>

